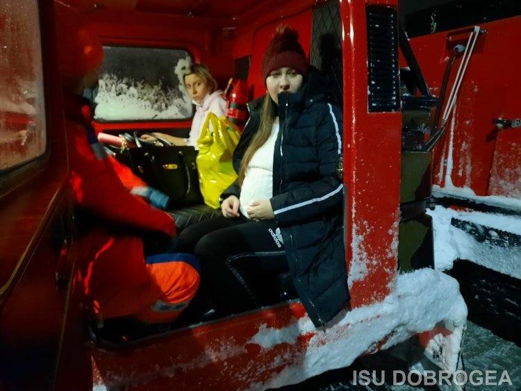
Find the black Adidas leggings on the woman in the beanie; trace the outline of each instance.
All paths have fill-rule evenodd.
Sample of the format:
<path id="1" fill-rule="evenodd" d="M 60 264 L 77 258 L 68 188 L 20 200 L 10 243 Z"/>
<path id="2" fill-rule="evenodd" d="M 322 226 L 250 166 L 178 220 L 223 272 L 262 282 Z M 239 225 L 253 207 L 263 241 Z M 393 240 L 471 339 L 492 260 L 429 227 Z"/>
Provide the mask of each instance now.
<path id="1" fill-rule="evenodd" d="M 218 310 L 238 313 L 258 306 L 254 286 L 288 271 L 286 252 L 274 220 L 246 217 L 208 219 L 180 234 L 176 251 L 201 261 L 201 283 L 210 285 Z"/>

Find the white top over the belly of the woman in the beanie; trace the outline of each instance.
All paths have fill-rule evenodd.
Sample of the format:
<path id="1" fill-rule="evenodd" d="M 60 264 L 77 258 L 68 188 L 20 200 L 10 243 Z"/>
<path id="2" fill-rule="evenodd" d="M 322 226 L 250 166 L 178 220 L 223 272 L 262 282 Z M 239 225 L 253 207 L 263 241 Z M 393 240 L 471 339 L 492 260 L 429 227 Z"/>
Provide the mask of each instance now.
<path id="1" fill-rule="evenodd" d="M 273 124 L 272 134 L 263 146 L 249 160 L 245 180 L 240 189 L 240 213 L 246 213 L 252 201 L 271 199 L 273 197 L 273 153 L 276 136 L 279 134 L 279 123 Z"/>

